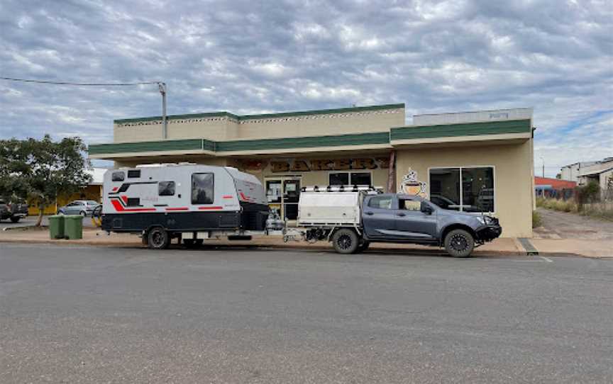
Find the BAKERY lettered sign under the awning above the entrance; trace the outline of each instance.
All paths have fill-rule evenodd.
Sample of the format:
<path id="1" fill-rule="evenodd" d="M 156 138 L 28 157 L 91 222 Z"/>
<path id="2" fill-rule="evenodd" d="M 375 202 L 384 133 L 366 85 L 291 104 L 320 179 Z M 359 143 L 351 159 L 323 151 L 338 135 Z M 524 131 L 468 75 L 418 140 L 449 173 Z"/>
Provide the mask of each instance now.
<path id="1" fill-rule="evenodd" d="M 355 159 L 293 159 L 270 162 L 270 171 L 273 173 L 377 168 L 390 168 L 390 159 L 387 157 L 359 157 Z"/>

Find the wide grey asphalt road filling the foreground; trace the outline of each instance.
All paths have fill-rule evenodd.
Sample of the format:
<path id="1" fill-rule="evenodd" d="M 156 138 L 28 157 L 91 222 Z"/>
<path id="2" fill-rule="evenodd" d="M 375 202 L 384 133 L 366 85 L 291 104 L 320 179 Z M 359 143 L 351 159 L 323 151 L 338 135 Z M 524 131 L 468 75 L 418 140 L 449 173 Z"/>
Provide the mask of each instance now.
<path id="1" fill-rule="evenodd" d="M 1 383 L 611 383 L 613 261 L 0 244 Z"/>

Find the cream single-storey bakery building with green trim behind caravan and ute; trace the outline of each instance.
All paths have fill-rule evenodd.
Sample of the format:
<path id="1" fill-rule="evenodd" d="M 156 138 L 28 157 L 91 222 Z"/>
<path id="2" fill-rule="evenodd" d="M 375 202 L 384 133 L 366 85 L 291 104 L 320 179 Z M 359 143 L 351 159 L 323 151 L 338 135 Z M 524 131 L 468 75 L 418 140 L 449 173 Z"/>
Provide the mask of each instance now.
<path id="1" fill-rule="evenodd" d="M 271 208 L 294 220 L 302 186 L 372 185 L 448 209 L 497 216 L 502 236 L 531 237 L 531 108 L 414 115 L 404 104 L 114 121 L 91 159 L 118 167 L 192 162 L 234 166 L 262 181 Z"/>

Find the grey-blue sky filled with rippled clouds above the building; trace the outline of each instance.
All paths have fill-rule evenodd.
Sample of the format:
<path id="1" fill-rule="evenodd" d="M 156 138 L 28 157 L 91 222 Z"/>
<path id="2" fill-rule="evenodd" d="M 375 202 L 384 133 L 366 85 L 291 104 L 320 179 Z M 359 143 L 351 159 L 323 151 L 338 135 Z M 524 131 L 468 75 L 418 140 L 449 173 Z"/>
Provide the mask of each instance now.
<path id="1" fill-rule="evenodd" d="M 170 114 L 534 107 L 539 174 L 613 156 L 610 0 L 2 0 L 0 77 L 162 80 Z M 110 142 L 160 96 L 0 81 L 0 107 L 1 138 Z"/>

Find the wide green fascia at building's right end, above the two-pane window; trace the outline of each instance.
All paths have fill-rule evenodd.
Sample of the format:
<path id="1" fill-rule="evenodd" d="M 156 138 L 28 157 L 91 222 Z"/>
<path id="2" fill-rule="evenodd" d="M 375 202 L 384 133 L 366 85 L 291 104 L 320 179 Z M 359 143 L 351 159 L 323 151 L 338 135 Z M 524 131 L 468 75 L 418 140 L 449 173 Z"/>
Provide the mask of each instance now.
<path id="1" fill-rule="evenodd" d="M 530 120 L 486 121 L 483 123 L 422 125 L 392 128 L 390 138 L 395 140 L 429 139 L 476 135 L 501 135 L 531 132 Z"/>

